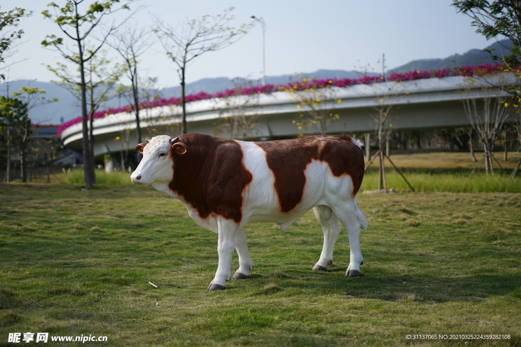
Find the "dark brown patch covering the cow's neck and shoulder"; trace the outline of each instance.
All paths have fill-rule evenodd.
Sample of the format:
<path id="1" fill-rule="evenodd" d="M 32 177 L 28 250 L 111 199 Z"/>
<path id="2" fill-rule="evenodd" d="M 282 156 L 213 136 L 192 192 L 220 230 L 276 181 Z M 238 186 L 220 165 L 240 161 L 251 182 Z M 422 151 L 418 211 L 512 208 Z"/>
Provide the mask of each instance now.
<path id="1" fill-rule="evenodd" d="M 179 151 L 183 146 L 185 152 Z M 242 192 L 252 174 L 242 162 L 241 146 L 231 139 L 203 134 L 180 135 L 170 148 L 173 178 L 168 187 L 203 219 L 215 213 L 242 220 Z"/>

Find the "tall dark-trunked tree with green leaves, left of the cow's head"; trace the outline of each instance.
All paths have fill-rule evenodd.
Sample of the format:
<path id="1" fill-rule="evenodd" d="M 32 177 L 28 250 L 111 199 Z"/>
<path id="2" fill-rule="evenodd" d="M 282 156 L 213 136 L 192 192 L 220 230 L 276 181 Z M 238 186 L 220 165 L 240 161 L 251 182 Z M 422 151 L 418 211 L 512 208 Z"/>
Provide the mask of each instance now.
<path id="1" fill-rule="evenodd" d="M 131 0 L 126 0 L 131 1 Z M 90 150 L 88 112 L 87 112 L 87 81 L 85 76 L 85 64 L 91 60 L 96 53 L 103 47 L 107 41 L 107 37 L 117 29 L 112 25 L 108 29 L 101 32 L 105 16 L 114 12 L 113 6 L 120 0 L 105 0 L 103 2 L 95 1 L 83 8 L 82 3 L 85 0 L 67 0 L 64 7 L 59 7 L 55 3 L 47 6 L 52 7 L 54 14 L 49 10 L 42 12 L 47 19 L 53 20 L 60 30 L 73 41 L 75 50 L 64 46 L 64 38 L 56 35 L 47 35 L 42 41 L 44 47 L 54 47 L 58 50 L 62 57 L 76 65 L 80 74 L 80 80 L 76 81 L 78 89 L 81 91 L 81 118 L 83 128 L 83 171 L 85 175 L 85 187 L 91 188 L 95 182 L 94 165 L 92 162 L 93 153 Z M 121 8 L 129 9 L 128 5 L 122 5 Z M 84 14 L 80 11 L 84 9 Z M 88 48 L 88 38 L 95 37 L 96 30 L 100 32 L 101 37 L 98 38 L 98 44 L 95 47 Z"/>

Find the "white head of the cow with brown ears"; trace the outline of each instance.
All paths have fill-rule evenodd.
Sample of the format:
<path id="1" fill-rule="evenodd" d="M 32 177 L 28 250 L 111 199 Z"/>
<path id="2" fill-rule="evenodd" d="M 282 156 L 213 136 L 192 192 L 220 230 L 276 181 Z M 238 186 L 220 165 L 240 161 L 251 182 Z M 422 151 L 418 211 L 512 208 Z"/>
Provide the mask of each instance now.
<path id="1" fill-rule="evenodd" d="M 134 184 L 168 184 L 173 177 L 173 158 L 175 155 L 184 155 L 187 146 L 179 142 L 179 138 L 168 135 L 152 137 L 147 144 L 135 147 L 143 154 L 138 168 L 130 176 Z"/>

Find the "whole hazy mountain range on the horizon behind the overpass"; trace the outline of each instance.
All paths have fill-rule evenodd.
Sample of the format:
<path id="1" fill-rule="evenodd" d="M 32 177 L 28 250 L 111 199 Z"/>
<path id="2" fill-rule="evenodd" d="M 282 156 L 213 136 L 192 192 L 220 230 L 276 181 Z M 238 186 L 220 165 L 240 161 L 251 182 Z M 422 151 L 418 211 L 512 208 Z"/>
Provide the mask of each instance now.
<path id="1" fill-rule="evenodd" d="M 493 54 L 500 55 L 501 52 L 506 52 L 508 46 L 508 40 L 495 42 L 494 44 L 487 47 L 487 49 L 494 49 Z M 470 49 L 468 52 L 463 54 L 454 54 L 450 57 L 439 58 L 439 59 L 418 59 L 410 61 L 402 66 L 396 67 L 391 72 L 405 72 L 411 70 L 430 70 L 430 69 L 443 69 L 446 67 L 456 67 L 462 65 L 480 65 L 485 62 L 492 62 L 490 54 L 483 52 L 481 49 Z M 315 72 L 300 73 L 299 75 L 305 76 L 305 78 L 313 77 L 317 80 L 320 79 L 331 79 L 331 78 L 359 78 L 361 74 L 357 71 L 345 71 L 345 70 L 317 70 Z M 298 80 L 298 77 L 293 77 L 293 74 L 278 75 L 278 76 L 266 76 L 267 84 L 285 84 L 290 80 Z M 204 91 L 206 93 L 214 93 L 218 91 L 224 91 L 225 89 L 233 88 L 235 84 L 246 84 L 249 83 L 247 79 L 235 78 L 229 79 L 227 77 L 218 78 L 207 78 L 187 83 L 186 91 L 187 94 L 199 93 Z M 260 84 L 261 81 L 253 81 L 254 84 Z M 38 87 L 45 89 L 45 97 L 47 99 L 53 99 L 57 97 L 58 102 L 52 102 L 51 104 L 42 105 L 35 107 L 31 110 L 30 117 L 34 123 L 42 124 L 60 124 L 60 119 L 63 117 L 65 121 L 71 120 L 78 117 L 81 114 L 80 105 L 78 100 L 67 89 L 58 86 L 52 82 L 40 82 L 32 80 L 17 80 L 13 82 L 0 83 L 0 95 L 12 94 L 15 91 L 19 91 L 20 87 Z M 174 86 L 163 89 L 161 92 L 165 98 L 180 96 L 180 87 Z M 125 105 L 127 102 L 124 99 L 118 100 L 114 98 L 106 103 L 105 108 L 118 107 Z"/>

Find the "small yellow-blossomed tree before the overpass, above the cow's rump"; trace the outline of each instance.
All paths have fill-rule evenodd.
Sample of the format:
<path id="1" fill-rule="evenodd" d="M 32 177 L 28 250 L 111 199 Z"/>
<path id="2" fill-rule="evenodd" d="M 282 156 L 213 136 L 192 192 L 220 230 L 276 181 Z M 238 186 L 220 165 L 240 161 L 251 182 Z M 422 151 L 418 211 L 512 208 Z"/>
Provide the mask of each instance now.
<path id="1" fill-rule="evenodd" d="M 296 107 L 304 108 L 304 112 L 299 112 L 299 119 L 293 123 L 299 130 L 309 125 L 316 125 L 318 131 L 322 135 L 327 134 L 327 125 L 339 119 L 338 113 L 332 113 L 332 103 L 342 102 L 341 99 L 334 96 L 334 88 L 330 86 L 333 81 L 321 85 L 312 78 L 306 79 L 300 76 L 301 82 L 290 83 L 286 88 L 286 92 L 293 96 L 292 100 L 299 101 Z M 307 117 L 306 117 L 307 115 Z"/>

